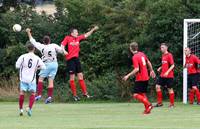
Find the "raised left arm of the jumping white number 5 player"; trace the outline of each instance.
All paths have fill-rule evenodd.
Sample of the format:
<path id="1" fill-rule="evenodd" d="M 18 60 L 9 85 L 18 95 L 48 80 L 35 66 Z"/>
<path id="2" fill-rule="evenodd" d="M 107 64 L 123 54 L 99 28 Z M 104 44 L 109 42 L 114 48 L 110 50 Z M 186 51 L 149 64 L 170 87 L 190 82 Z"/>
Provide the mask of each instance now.
<path id="1" fill-rule="evenodd" d="M 29 37 L 29 40 L 30 42 L 40 51 L 42 51 L 44 45 L 39 43 L 39 42 L 36 42 L 35 39 L 32 37 L 32 34 L 31 34 L 31 29 L 30 28 L 27 28 L 26 29 L 26 32 L 28 34 L 28 37 Z"/>

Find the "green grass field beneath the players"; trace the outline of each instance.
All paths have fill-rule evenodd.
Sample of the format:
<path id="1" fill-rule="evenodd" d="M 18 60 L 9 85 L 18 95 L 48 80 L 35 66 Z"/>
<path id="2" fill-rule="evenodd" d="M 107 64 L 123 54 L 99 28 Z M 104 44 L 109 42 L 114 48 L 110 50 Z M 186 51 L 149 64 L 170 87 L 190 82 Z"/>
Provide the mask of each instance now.
<path id="1" fill-rule="evenodd" d="M 139 103 L 39 103 L 20 117 L 17 102 L 0 102 L 0 129 L 200 129 L 200 106 L 167 105 L 142 115 Z"/>

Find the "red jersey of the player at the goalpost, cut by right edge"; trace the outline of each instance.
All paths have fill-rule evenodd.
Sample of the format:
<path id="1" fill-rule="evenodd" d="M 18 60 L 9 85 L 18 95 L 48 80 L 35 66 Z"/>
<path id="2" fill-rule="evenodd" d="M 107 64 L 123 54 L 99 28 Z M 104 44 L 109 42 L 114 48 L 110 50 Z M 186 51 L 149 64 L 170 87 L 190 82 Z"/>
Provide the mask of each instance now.
<path id="1" fill-rule="evenodd" d="M 198 73 L 197 65 L 200 64 L 197 56 L 191 54 L 189 57 L 186 56 L 185 67 L 187 68 L 188 74 Z"/>

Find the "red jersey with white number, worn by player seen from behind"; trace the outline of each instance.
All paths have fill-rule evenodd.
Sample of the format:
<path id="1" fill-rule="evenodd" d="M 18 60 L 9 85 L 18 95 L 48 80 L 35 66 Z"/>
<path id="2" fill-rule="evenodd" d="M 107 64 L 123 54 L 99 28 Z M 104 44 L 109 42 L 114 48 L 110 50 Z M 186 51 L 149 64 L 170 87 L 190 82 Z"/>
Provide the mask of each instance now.
<path id="1" fill-rule="evenodd" d="M 134 54 L 132 57 L 133 67 L 139 68 L 139 72 L 136 73 L 136 80 L 135 81 L 148 81 L 149 80 L 149 74 L 147 69 L 147 56 L 142 53 L 138 52 Z"/>

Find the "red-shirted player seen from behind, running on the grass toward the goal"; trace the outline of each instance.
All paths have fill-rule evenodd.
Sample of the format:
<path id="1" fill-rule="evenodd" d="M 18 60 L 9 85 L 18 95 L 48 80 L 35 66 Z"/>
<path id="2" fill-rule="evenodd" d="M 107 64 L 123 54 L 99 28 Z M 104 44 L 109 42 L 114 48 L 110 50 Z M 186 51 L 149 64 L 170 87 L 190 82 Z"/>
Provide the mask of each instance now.
<path id="1" fill-rule="evenodd" d="M 132 62 L 133 62 L 133 71 L 127 74 L 123 80 L 126 81 L 130 76 L 135 75 L 135 86 L 133 91 L 133 98 L 144 104 L 145 110 L 144 114 L 149 114 L 151 109 L 153 108 L 152 104 L 148 101 L 146 96 L 149 74 L 147 66 L 150 70 L 151 77 L 155 78 L 155 73 L 153 71 L 151 62 L 147 58 L 147 56 L 138 51 L 138 44 L 133 42 L 130 44 L 130 51 L 133 54 Z"/>

